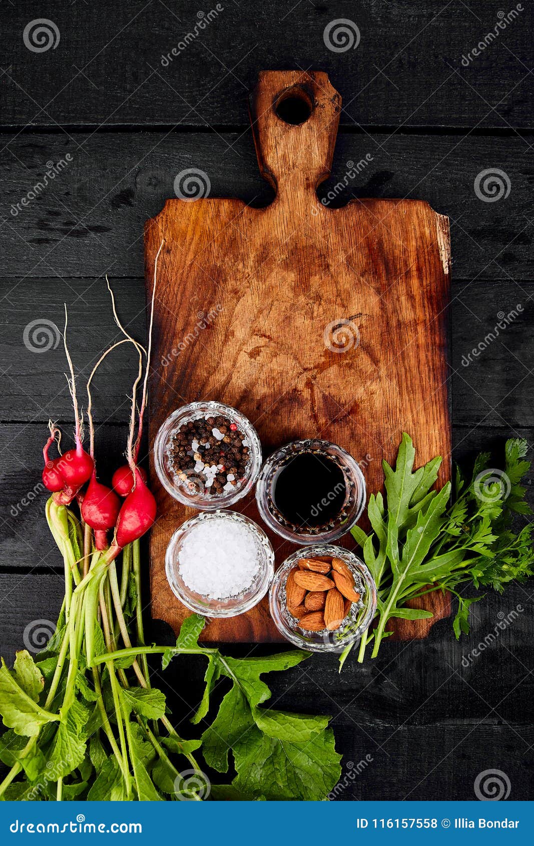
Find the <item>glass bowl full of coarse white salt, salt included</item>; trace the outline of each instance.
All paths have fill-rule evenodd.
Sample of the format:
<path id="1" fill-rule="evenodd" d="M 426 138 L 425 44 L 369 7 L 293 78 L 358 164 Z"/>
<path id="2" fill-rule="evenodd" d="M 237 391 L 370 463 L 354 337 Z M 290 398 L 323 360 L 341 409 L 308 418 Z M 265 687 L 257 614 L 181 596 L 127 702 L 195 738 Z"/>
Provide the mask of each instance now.
<path id="1" fill-rule="evenodd" d="M 177 529 L 167 547 L 168 584 L 179 601 L 206 617 L 237 617 L 266 595 L 274 552 L 253 520 L 206 511 Z"/>

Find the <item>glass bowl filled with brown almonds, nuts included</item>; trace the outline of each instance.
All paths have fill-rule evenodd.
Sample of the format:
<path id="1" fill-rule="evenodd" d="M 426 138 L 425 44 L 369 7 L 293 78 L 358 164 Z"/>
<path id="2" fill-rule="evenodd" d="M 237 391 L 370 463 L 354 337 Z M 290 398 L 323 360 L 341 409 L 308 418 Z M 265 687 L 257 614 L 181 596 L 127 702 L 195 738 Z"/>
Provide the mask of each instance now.
<path id="1" fill-rule="evenodd" d="M 341 652 L 361 638 L 377 608 L 377 587 L 354 552 L 303 547 L 278 568 L 269 608 L 281 634 L 314 652 Z"/>

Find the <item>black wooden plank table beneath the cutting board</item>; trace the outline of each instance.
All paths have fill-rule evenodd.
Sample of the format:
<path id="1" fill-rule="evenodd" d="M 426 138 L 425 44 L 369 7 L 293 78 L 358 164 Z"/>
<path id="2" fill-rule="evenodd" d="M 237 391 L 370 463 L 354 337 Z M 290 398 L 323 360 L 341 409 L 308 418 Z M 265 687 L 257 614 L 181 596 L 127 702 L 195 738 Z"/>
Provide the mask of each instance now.
<path id="1" fill-rule="evenodd" d="M 269 200 L 247 116 L 260 69 L 326 70 L 344 98 L 321 195 L 333 190 L 340 204 L 421 198 L 450 217 L 454 459 L 481 448 L 497 457 L 510 434 L 532 442 L 532 9 L 509 5 L 2 3 L 6 659 L 29 624 L 56 618 L 63 596 L 40 485 L 47 420 L 67 431 L 72 420 L 57 329 L 63 303 L 75 365 L 87 376 L 117 338 L 105 273 L 124 323 L 144 337 L 143 222 L 174 195 L 179 173 L 201 171 L 213 196 Z M 47 31 L 36 30 L 37 14 L 47 15 Z M 120 348 L 96 379 L 102 470 L 124 450 L 132 364 Z M 532 798 L 533 593 L 531 583 L 487 596 L 458 643 L 445 620 L 426 641 L 384 643 L 376 662 L 351 658 L 340 676 L 335 660 L 315 656 L 273 678 L 278 707 L 333 715 L 344 773 L 358 773 L 339 799 L 473 799 L 487 769 L 507 775 L 510 799 Z M 516 607 L 515 623 L 465 668 L 462 656 Z M 156 625 L 152 636 L 169 639 Z M 169 669 L 177 717 L 195 706 L 203 669 L 185 659 Z"/>

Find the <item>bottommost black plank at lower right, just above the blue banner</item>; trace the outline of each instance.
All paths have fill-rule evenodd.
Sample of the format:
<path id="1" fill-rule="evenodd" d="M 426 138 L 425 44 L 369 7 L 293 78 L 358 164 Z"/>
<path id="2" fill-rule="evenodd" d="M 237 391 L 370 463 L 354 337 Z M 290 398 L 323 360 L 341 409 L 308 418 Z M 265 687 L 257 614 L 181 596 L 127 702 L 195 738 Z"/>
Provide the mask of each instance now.
<path id="1" fill-rule="evenodd" d="M 469 691 L 457 691 L 458 700 L 464 695 Z M 333 728 L 335 732 L 336 726 Z M 340 785 L 333 793 L 338 801 L 377 802 L 377 797 L 380 801 L 473 801 L 478 799 L 476 778 L 486 770 L 504 772 L 510 783 L 510 801 L 526 801 L 532 796 L 532 752 L 528 747 L 534 743 L 534 730 L 530 725 L 474 722 L 384 730 L 347 719 L 338 737 L 339 749 L 344 752 Z M 366 755 L 372 758 L 369 763 Z M 358 774 L 354 768 L 360 761 Z M 503 798 L 506 791 L 504 780 Z M 503 811 L 495 818 L 504 816 Z"/>

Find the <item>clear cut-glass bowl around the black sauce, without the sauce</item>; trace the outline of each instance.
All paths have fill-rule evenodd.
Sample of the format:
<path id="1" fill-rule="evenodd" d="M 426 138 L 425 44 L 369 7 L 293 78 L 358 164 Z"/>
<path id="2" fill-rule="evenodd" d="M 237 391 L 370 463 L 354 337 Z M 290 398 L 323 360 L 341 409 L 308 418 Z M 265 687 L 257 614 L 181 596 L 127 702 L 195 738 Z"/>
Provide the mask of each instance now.
<path id="1" fill-rule="evenodd" d="M 289 459 L 299 453 L 316 453 L 333 459 L 343 472 L 345 496 L 343 506 L 335 519 L 330 519 L 323 525 L 302 525 L 296 527 L 276 508 L 273 503 L 273 483 L 278 470 L 288 464 Z M 324 503 L 328 504 L 331 492 L 325 491 L 324 497 L 317 503 L 317 514 L 320 514 Z M 317 543 L 317 541 L 338 541 L 344 536 L 361 516 L 366 504 L 366 481 L 358 462 L 342 447 L 329 441 L 307 439 L 292 441 L 279 448 L 271 455 L 261 469 L 256 485 L 256 503 L 261 518 L 270 529 L 277 532 L 288 541 L 297 543 Z"/>

